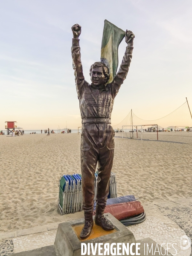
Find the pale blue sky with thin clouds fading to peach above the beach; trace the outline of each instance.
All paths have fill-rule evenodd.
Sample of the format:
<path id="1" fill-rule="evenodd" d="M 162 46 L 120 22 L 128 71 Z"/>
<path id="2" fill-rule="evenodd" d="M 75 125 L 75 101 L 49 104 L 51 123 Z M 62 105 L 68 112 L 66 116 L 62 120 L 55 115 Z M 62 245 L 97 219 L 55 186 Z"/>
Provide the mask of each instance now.
<path id="1" fill-rule="evenodd" d="M 135 34 L 112 125 L 131 109 L 142 119 L 161 118 L 186 97 L 192 108 L 191 14 L 191 0 L 1 0 L 0 130 L 5 121 L 17 121 L 25 130 L 81 126 L 71 26 L 81 25 L 81 61 L 90 83 L 105 19 Z M 125 47 L 122 41 L 119 64 Z"/>

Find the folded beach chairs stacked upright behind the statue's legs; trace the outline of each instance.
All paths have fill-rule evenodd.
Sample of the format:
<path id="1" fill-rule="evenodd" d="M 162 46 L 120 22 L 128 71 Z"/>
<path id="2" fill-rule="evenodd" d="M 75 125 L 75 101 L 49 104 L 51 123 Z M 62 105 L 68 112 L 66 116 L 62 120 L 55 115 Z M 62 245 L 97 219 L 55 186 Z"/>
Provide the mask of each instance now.
<path id="1" fill-rule="evenodd" d="M 94 184 L 94 201 L 96 201 L 97 193 L 97 182 L 98 172 L 95 173 L 95 184 Z M 59 180 L 59 195 L 58 195 L 58 208 L 61 214 L 68 214 L 73 212 L 82 211 L 82 186 L 81 186 L 81 175 L 63 175 Z M 116 178 L 115 173 L 111 172 L 110 177 L 110 190 L 108 198 L 116 198 Z"/>

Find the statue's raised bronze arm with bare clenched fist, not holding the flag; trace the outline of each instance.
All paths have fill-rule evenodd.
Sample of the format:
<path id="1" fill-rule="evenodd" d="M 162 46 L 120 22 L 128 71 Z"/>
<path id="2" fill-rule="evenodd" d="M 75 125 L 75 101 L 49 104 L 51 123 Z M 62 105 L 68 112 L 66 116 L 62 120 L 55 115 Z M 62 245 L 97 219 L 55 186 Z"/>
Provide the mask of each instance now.
<path id="1" fill-rule="evenodd" d="M 83 68 L 81 64 L 81 53 L 79 47 L 79 35 L 81 35 L 81 26 L 79 24 L 75 24 L 72 26 L 73 32 L 73 41 L 72 41 L 72 58 L 73 58 L 73 69 L 74 75 L 76 79 L 76 89 L 78 98 L 81 96 L 81 91 L 84 85 L 84 76 L 83 76 Z"/>

